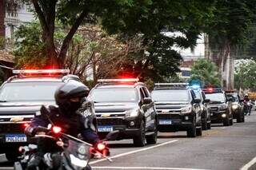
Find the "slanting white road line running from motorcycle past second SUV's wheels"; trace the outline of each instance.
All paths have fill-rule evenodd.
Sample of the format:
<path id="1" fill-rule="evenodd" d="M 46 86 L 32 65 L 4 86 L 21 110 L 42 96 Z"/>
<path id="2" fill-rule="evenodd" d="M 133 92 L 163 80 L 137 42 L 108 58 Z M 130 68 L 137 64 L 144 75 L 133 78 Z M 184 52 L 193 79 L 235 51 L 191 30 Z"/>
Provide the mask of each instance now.
<path id="1" fill-rule="evenodd" d="M 110 159 L 113 159 L 113 158 L 118 158 L 120 156 L 126 156 L 126 155 L 130 155 L 130 154 L 133 154 L 133 153 L 136 153 L 136 152 L 142 152 L 142 151 L 146 151 L 146 150 L 149 150 L 151 148 L 158 148 L 160 146 L 163 146 L 163 145 L 166 145 L 166 144 L 171 144 L 171 143 L 174 143 L 174 142 L 177 142 L 178 140 L 170 140 L 170 141 L 167 141 L 167 142 L 164 142 L 162 144 L 157 144 L 157 145 L 154 145 L 154 146 L 150 146 L 148 148 L 141 148 L 141 149 L 138 149 L 138 150 L 134 150 L 134 151 L 130 151 L 130 152 L 125 152 L 125 153 L 121 153 L 121 154 L 118 154 L 118 155 L 115 155 L 115 156 L 110 156 Z M 102 162 L 106 159 L 102 159 L 102 160 L 94 160 L 92 162 L 90 162 L 90 164 L 96 164 L 98 162 Z"/>

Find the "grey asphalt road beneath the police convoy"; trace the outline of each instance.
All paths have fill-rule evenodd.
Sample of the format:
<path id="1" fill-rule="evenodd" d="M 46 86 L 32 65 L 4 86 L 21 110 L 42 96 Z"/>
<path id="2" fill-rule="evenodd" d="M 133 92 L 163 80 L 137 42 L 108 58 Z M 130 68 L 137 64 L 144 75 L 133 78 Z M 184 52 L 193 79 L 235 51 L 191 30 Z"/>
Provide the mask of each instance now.
<path id="1" fill-rule="evenodd" d="M 91 160 L 94 169 L 256 169 L 256 113 L 245 123 L 230 127 L 213 125 L 202 137 L 186 138 L 186 132 L 159 133 L 158 144 L 135 148 L 131 140 L 110 142 L 112 163 Z M 0 169 L 12 164 L 0 156 Z"/>

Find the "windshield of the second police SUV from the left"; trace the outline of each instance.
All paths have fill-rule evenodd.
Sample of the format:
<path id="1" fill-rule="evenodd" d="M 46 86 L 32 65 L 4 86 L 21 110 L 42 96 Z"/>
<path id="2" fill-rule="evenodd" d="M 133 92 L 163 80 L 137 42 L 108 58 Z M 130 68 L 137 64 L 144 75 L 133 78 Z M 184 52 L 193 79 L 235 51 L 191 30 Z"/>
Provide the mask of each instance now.
<path id="1" fill-rule="evenodd" d="M 137 101 L 136 89 L 93 89 L 90 98 L 94 102 L 132 102 Z"/>

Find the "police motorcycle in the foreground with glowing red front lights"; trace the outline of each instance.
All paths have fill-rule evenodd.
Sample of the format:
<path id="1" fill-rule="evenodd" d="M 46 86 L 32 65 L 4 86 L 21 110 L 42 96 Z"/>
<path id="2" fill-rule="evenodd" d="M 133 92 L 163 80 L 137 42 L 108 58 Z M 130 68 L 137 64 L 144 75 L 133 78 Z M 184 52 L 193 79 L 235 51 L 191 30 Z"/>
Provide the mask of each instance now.
<path id="1" fill-rule="evenodd" d="M 90 105 L 86 102 L 85 105 Z M 87 107 L 88 108 L 88 107 Z M 90 109 L 92 107 L 89 107 Z M 80 110 L 81 111 L 81 110 Z M 81 111 L 86 117 L 91 117 L 90 110 Z M 48 117 L 49 118 L 49 117 Z M 49 118 L 50 119 L 50 118 Z M 50 121 L 52 122 L 52 121 Z M 101 140 L 96 145 L 92 145 L 79 139 L 76 136 L 70 136 L 62 132 L 62 127 L 49 124 L 47 128 L 38 127 L 38 132 L 45 134 L 35 135 L 34 138 L 48 138 L 54 140 L 56 144 L 62 148 L 61 152 L 46 153 L 43 157 L 43 164 L 38 169 L 58 169 L 58 170 L 90 170 L 90 159 L 102 157 L 112 162 L 108 157 L 110 155 L 109 148 L 104 144 L 105 140 L 115 140 L 118 137 L 118 131 L 110 132 L 104 140 Z M 15 170 L 26 169 L 30 160 L 34 159 L 34 154 L 37 152 L 36 144 L 21 146 L 18 150 L 22 152 L 22 156 L 18 157 L 14 163 Z"/>

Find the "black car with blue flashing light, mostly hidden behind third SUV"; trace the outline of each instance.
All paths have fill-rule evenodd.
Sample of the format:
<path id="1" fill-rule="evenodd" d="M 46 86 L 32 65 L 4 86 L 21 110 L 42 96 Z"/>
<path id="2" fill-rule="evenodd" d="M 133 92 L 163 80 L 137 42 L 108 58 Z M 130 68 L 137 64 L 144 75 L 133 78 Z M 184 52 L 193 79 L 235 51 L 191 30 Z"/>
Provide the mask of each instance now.
<path id="1" fill-rule="evenodd" d="M 197 98 L 201 99 L 200 101 L 200 108 L 202 109 L 202 130 L 207 130 L 211 128 L 210 123 L 210 106 L 209 106 L 209 99 L 206 99 L 205 93 L 202 89 L 194 89 L 194 93 Z"/>

